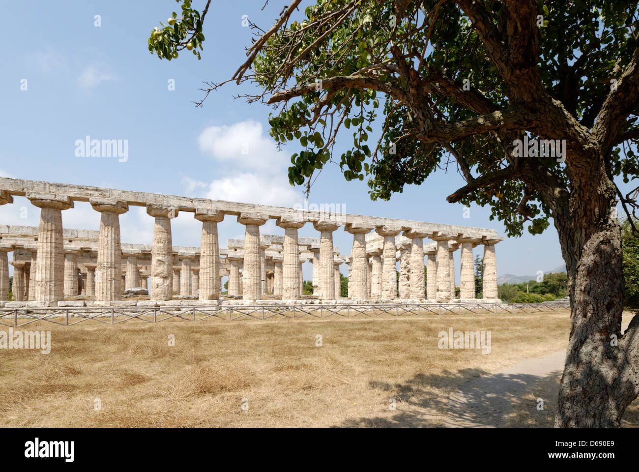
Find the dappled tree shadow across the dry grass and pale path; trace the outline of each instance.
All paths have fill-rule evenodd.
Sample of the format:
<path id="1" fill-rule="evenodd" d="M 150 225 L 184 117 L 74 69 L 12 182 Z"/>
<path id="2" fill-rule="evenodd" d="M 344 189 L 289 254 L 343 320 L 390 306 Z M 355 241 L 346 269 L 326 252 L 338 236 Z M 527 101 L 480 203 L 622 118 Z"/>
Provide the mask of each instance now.
<path id="1" fill-rule="evenodd" d="M 556 376 L 489 374 L 480 369 L 443 371 L 438 375 L 417 374 L 406 382 L 369 382 L 369 388 L 396 398 L 396 410 L 370 418 L 348 418 L 339 427 L 505 427 L 506 414 L 537 410 L 529 394 L 542 379 Z M 466 381 L 459 384 L 460 377 Z M 544 398 L 544 402 L 555 398 Z"/>

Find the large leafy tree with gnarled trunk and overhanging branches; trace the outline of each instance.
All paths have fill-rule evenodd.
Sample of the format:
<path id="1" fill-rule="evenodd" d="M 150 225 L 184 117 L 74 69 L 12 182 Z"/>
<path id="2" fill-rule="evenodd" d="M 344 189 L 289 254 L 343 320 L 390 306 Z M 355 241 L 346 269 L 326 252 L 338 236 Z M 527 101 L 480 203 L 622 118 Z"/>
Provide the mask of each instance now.
<path id="1" fill-rule="evenodd" d="M 614 178 L 639 173 L 637 2 L 318 0 L 303 14 L 300 3 L 266 30 L 247 20 L 247 60 L 197 105 L 229 81 L 256 84 L 247 98 L 273 106 L 279 145 L 301 148 L 289 180 L 307 192 L 329 161 L 385 200 L 455 169 L 466 184 L 447 200 L 488 205 L 508 235 L 541 233 L 551 217 L 571 300 L 555 424 L 619 426 L 639 394 L 639 319 L 622 336 L 612 211 L 617 198 L 626 214 L 636 205 Z M 183 20 L 151 33 L 160 57 L 204 40 L 210 0 L 201 15 L 181 4 Z M 338 132 L 350 150 L 335 151 Z"/>

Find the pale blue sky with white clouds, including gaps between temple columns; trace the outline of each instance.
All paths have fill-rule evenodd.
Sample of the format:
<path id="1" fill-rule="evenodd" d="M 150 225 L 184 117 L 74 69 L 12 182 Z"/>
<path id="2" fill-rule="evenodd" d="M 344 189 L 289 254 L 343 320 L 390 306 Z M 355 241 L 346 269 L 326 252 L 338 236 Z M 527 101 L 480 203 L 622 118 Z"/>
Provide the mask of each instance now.
<path id="1" fill-rule="evenodd" d="M 289 145 L 277 152 L 268 136 L 270 107 L 233 98 L 250 91 L 248 84 L 227 84 L 211 93 L 203 108 L 193 104 L 203 95 L 197 90 L 202 81 L 223 81 L 245 60 L 251 34 L 242 27 L 242 15 L 266 28 L 286 4 L 270 1 L 261 12 L 263 3 L 214 2 L 205 22 L 202 60 L 181 54 L 169 62 L 148 52 L 147 39 L 158 21 L 178 11 L 174 0 L 3 1 L 4 35 L 14 40 L 3 51 L 0 74 L 0 175 L 249 203 L 303 203 L 302 191 L 287 177 L 290 155 L 298 149 Z M 20 90 L 22 79 L 27 90 Z M 87 135 L 127 139 L 128 161 L 76 157 L 74 143 Z M 242 153 L 243 146 L 248 153 Z M 332 164 L 322 171 L 309 201 L 339 203 L 353 214 L 495 228 L 504 235 L 501 223 L 489 221 L 488 210 L 471 207 L 464 218 L 461 205 L 447 203 L 445 197 L 463 184 L 455 171 L 438 171 L 390 201 L 371 201 L 366 181 L 346 182 Z M 27 207 L 26 218 L 22 207 Z M 13 205 L 0 207 L 0 223 L 37 226 L 39 214 L 27 200 L 15 198 Z M 150 244 L 153 219 L 144 208 L 132 207 L 120 218 L 123 242 Z M 99 220 L 88 203 L 63 212 L 68 228 L 97 230 Z M 199 246 L 200 230 L 192 214 L 180 214 L 173 220 L 173 243 Z M 273 221 L 262 231 L 282 233 Z M 318 236 L 311 224 L 300 235 Z M 235 237 L 243 237 L 243 226 L 227 217 L 220 224 L 220 246 Z M 350 254 L 350 234 L 340 229 L 334 241 L 341 253 Z M 455 258 L 459 283 L 459 251 Z M 552 225 L 543 235 L 505 239 L 497 246 L 498 275 L 535 274 L 561 264 Z M 311 269 L 304 264 L 305 278 Z"/>

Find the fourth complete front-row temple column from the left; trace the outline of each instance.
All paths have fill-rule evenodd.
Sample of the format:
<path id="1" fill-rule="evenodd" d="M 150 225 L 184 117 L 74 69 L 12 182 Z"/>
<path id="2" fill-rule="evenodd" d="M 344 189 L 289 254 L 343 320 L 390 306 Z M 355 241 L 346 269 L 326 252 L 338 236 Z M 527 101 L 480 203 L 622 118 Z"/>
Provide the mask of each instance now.
<path id="1" fill-rule="evenodd" d="M 199 299 L 200 301 L 217 300 L 222 292 L 217 223 L 224 219 L 224 213 L 210 208 L 197 208 L 196 219 L 202 222 Z M 230 288 L 229 283 L 229 290 Z"/>

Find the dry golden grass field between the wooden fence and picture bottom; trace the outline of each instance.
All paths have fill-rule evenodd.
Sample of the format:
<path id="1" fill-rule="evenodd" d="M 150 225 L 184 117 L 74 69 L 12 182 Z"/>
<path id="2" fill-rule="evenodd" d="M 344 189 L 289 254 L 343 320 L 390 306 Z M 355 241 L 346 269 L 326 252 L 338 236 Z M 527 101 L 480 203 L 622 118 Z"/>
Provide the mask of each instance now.
<path id="1" fill-rule="evenodd" d="M 438 349 L 449 327 L 491 331 L 491 352 Z M 2 426 L 436 427 L 466 380 L 565 349 L 569 313 L 19 329 L 51 331 L 52 349 L 0 350 Z M 552 425 L 556 379 L 535 383 L 508 424 Z M 539 395 L 551 398 L 546 414 L 535 410 Z"/>

